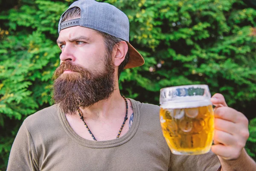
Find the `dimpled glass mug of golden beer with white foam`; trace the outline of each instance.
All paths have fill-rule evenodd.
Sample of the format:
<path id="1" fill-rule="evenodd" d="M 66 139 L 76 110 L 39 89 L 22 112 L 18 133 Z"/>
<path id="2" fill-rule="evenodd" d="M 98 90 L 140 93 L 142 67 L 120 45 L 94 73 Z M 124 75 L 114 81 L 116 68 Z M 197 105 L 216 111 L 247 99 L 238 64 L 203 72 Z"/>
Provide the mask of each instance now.
<path id="1" fill-rule="evenodd" d="M 214 113 L 207 85 L 166 87 L 160 90 L 160 124 L 173 154 L 210 151 Z"/>

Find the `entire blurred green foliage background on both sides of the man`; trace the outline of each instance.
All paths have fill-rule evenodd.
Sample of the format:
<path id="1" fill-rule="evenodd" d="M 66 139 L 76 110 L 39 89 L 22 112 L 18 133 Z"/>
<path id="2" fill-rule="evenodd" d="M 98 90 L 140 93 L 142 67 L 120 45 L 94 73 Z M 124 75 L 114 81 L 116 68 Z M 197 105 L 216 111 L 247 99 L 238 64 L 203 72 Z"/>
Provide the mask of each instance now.
<path id="1" fill-rule="evenodd" d="M 123 95 L 159 104 L 159 90 L 208 84 L 250 120 L 246 149 L 256 159 L 256 3 L 253 0 L 99 0 L 130 20 L 145 58 L 120 76 Z M 58 21 L 73 0 L 0 0 L 0 171 L 17 130 L 51 105 Z"/>

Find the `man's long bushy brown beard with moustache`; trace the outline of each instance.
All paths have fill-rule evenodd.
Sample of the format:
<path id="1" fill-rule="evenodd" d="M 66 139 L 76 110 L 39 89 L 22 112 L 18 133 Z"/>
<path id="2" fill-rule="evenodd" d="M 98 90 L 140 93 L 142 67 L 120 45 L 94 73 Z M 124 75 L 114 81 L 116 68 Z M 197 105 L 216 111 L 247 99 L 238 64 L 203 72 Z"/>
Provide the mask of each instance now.
<path id="1" fill-rule="evenodd" d="M 52 100 L 67 114 L 76 114 L 78 108 L 92 106 L 111 97 L 114 91 L 114 64 L 106 55 L 102 72 L 91 72 L 70 61 L 63 62 L 53 74 Z M 63 74 L 64 70 L 72 73 Z"/>

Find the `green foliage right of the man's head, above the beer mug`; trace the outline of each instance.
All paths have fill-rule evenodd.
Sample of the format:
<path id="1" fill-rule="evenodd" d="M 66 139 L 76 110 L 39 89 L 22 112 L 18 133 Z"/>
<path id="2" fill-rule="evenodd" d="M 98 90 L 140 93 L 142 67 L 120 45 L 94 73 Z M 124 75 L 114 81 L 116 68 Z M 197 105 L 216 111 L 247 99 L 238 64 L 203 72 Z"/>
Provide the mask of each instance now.
<path id="1" fill-rule="evenodd" d="M 152 95 L 157 97 L 160 88 L 180 84 L 208 84 L 229 105 L 244 107 L 255 99 L 254 9 L 237 0 L 121 0 L 114 5 L 129 17 L 132 44 L 145 52 L 143 67 L 125 71 L 136 75 L 129 81 L 154 92 L 139 93 L 138 99 L 156 103 Z M 125 72 L 121 82 L 127 81 Z M 130 86 L 123 88 L 134 93 Z"/>

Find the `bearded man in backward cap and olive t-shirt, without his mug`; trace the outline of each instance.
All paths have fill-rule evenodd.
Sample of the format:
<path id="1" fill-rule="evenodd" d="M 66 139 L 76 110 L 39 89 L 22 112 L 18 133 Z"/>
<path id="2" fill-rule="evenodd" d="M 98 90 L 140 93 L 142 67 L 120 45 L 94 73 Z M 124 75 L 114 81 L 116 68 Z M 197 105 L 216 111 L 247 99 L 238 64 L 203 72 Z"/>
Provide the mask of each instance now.
<path id="1" fill-rule="evenodd" d="M 108 3 L 74 2 L 61 15 L 61 65 L 53 75 L 55 105 L 25 119 L 8 171 L 253 171 L 244 150 L 248 120 L 215 94 L 216 145 L 197 156 L 171 154 L 159 107 L 126 99 L 124 68 L 143 57 L 129 41 L 128 17 Z"/>

